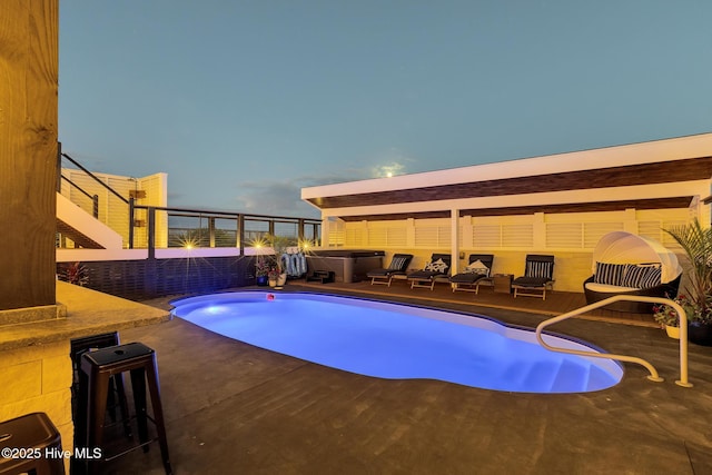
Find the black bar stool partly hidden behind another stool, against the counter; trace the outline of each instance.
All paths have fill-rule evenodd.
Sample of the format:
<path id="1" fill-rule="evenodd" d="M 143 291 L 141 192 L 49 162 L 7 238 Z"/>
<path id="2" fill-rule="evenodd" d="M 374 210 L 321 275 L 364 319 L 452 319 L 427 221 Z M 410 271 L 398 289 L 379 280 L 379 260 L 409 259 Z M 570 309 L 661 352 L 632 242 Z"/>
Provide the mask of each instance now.
<path id="1" fill-rule="evenodd" d="M 79 404 L 79 372 L 81 365 L 81 355 L 85 352 L 116 346 L 118 344 L 118 331 L 91 335 L 81 338 L 73 338 L 70 340 L 69 356 L 71 357 L 71 364 L 75 372 L 71 386 L 71 406 L 72 418 L 75 420 L 75 426 L 77 427 L 75 429 L 76 442 L 83 442 L 86 439 L 83 429 L 87 425 L 87 422 L 85 420 L 86 414 L 80 409 L 80 407 L 86 407 L 86 405 L 80 406 Z M 123 387 L 123 376 L 121 374 L 111 376 L 111 378 L 109 379 L 109 399 L 107 407 L 109 410 L 109 416 L 111 417 L 111 422 L 116 422 L 116 407 L 118 406 L 121 413 L 121 422 L 123 423 L 123 432 L 126 433 L 127 437 L 131 437 L 131 424 L 129 422 L 129 409 L 126 399 L 126 389 Z M 115 397 L 118 398 L 118 402 L 115 399 Z"/>

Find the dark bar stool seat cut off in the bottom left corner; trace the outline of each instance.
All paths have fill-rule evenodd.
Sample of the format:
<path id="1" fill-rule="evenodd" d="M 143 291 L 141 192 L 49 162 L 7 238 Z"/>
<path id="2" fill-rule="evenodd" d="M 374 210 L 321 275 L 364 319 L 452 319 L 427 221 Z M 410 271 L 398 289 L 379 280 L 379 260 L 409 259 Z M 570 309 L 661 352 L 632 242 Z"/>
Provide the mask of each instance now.
<path id="1" fill-rule="evenodd" d="M 3 447 L 1 475 L 65 475 L 62 439 L 44 413 L 26 414 L 0 423 L 0 445 Z M 7 448 L 18 453 L 4 454 Z"/>

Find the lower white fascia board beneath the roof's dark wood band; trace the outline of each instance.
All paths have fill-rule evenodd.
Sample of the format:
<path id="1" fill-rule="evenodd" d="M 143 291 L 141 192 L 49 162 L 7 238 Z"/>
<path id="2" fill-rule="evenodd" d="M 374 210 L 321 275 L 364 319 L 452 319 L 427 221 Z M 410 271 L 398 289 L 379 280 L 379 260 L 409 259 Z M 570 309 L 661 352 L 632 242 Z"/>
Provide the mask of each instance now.
<path id="1" fill-rule="evenodd" d="M 709 192 L 709 180 L 679 181 L 674 184 L 653 184 L 636 185 L 630 187 L 548 191 L 528 195 L 507 195 L 482 198 L 403 202 L 394 205 L 327 208 L 322 210 L 322 217 L 328 218 L 332 216 L 345 217 L 360 215 L 415 214 L 453 209 L 491 209 L 522 206 L 624 201 L 630 199 L 659 199 L 685 195 L 700 196 Z"/>

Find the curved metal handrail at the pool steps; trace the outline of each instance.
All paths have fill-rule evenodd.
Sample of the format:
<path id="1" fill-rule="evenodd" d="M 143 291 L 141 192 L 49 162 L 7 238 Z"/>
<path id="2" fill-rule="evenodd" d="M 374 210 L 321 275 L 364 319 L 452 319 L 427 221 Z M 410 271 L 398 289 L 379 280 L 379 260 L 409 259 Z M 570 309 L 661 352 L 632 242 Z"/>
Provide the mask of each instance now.
<path id="1" fill-rule="evenodd" d="M 556 324 L 558 321 L 563 321 L 571 317 L 575 317 L 581 314 L 585 314 L 586 311 L 590 311 L 595 308 L 603 307 L 620 300 L 669 305 L 678 313 L 678 321 L 680 323 L 680 379 L 675 380 L 675 384 L 682 387 L 692 387 L 693 386 L 692 383 L 688 380 L 688 315 L 685 314 L 685 310 L 680 306 L 680 304 L 669 298 L 647 297 L 642 295 L 615 295 L 613 297 L 606 298 L 605 300 L 600 300 L 591 305 L 586 305 L 585 307 L 581 307 L 575 310 L 571 310 L 565 314 L 562 314 L 557 317 L 553 317 L 542 321 L 536 326 L 536 339 L 538 340 L 540 345 L 542 345 L 544 348 L 551 352 L 568 353 L 572 355 L 591 356 L 594 358 L 606 358 L 606 359 L 615 359 L 619 362 L 636 363 L 639 365 L 644 366 L 650 372 L 647 379 L 653 382 L 664 380 L 663 378 L 660 377 L 655 367 L 643 358 L 639 358 L 635 356 L 614 355 L 610 353 L 582 352 L 577 349 L 554 347 L 546 344 L 546 342 L 544 342 L 544 338 L 542 337 L 542 331 L 547 326 Z"/>

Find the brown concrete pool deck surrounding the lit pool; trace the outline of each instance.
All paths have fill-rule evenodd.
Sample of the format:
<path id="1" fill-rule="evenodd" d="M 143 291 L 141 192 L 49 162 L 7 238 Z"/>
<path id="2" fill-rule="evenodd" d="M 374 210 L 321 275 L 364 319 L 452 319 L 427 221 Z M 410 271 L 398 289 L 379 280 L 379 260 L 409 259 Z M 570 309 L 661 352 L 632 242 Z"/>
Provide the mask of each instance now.
<path id="1" fill-rule="evenodd" d="M 432 306 L 525 326 L 542 319 Z M 646 358 L 665 382 L 647 380 L 631 364 L 617 386 L 570 395 L 378 379 L 263 350 L 180 318 L 125 330 L 121 339 L 157 350 L 170 458 L 180 474 L 712 473 L 712 347 L 690 345 L 694 387 L 683 388 L 674 384 L 678 342 L 657 328 L 575 319 L 552 329 Z M 105 473 L 162 473 L 159 453 L 154 444 Z"/>

